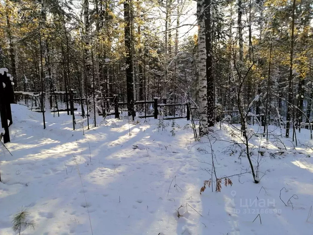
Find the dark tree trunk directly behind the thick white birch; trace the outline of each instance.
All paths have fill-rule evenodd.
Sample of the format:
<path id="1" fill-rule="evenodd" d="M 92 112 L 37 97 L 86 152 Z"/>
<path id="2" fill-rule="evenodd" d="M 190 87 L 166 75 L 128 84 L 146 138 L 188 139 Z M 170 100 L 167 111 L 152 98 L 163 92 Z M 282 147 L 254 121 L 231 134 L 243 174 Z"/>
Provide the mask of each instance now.
<path id="1" fill-rule="evenodd" d="M 212 64 L 212 27 L 211 27 L 211 0 L 204 0 L 205 49 L 206 49 L 206 76 L 208 98 L 208 126 L 214 126 L 214 77 Z"/>

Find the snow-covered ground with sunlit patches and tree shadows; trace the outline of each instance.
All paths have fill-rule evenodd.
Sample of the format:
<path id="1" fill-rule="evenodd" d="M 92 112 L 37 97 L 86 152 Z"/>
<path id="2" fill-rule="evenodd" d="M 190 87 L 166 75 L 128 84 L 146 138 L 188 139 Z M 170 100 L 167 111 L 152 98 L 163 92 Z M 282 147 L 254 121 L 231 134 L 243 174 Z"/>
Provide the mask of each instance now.
<path id="1" fill-rule="evenodd" d="M 87 130 L 76 114 L 77 130 L 65 112 L 46 115 L 44 130 L 41 113 L 12 105 L 6 147 L 13 156 L 0 152 L 1 235 L 17 234 L 12 219 L 22 206 L 35 222 L 23 235 L 312 234 L 308 130 L 297 131 L 295 147 L 274 126 L 269 141 L 252 136 L 251 158 L 262 177 L 255 184 L 236 126 L 217 125 L 194 142 L 187 120 L 175 120 L 173 131 L 170 120 L 99 117 Z M 220 192 L 212 159 L 216 177 L 232 181 L 225 186 L 222 179 Z"/>

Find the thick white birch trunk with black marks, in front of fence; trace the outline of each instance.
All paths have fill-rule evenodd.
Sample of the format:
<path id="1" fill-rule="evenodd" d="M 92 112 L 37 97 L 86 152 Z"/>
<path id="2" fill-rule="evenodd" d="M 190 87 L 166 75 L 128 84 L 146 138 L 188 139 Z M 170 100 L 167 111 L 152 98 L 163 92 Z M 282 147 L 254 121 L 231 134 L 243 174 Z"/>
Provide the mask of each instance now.
<path id="1" fill-rule="evenodd" d="M 207 77 L 206 77 L 206 42 L 204 23 L 204 0 L 197 1 L 198 22 L 198 77 L 199 77 L 199 136 L 208 133 L 208 99 L 207 99 Z"/>

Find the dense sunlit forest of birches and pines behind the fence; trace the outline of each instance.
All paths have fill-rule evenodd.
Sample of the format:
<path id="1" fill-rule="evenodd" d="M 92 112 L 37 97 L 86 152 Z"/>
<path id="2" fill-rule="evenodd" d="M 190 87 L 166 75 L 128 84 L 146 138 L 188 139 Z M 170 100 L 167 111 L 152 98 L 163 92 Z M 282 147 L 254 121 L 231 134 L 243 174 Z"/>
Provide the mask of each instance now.
<path id="1" fill-rule="evenodd" d="M 91 114 L 108 109 L 114 95 L 130 116 L 143 109 L 134 101 L 159 97 L 198 107 L 200 136 L 237 113 L 244 135 L 256 123 L 264 132 L 269 124 L 286 128 L 288 137 L 303 123 L 311 129 L 312 7 L 309 0 L 2 0 L 0 65 L 15 91 L 46 91 L 38 104 L 46 110 L 58 99 L 49 91 L 76 90 Z"/>

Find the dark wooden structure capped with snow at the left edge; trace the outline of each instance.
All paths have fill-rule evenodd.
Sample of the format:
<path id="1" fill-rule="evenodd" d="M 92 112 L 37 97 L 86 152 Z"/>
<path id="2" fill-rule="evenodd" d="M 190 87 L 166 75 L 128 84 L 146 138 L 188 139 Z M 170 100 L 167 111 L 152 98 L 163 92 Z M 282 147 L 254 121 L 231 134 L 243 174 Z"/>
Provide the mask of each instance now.
<path id="1" fill-rule="evenodd" d="M 8 69 L 0 69 L 0 116 L 1 125 L 0 140 L 3 143 L 10 142 L 9 126 L 12 124 L 11 104 L 14 103 L 13 78 L 8 73 Z"/>

